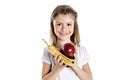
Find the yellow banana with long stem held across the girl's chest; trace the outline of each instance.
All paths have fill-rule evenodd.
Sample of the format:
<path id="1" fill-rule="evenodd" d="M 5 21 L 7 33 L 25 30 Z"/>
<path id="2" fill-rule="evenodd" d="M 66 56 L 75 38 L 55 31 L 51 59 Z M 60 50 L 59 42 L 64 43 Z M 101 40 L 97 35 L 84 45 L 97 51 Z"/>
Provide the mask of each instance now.
<path id="1" fill-rule="evenodd" d="M 44 39 L 42 39 L 46 45 L 47 45 L 47 48 L 49 50 L 49 52 L 52 54 L 52 55 L 61 55 L 62 56 L 62 60 L 64 61 L 64 63 L 68 66 L 74 66 L 74 60 L 73 59 L 70 59 L 68 57 L 66 57 L 65 55 L 63 55 L 60 51 L 58 51 L 54 46 L 52 45 L 49 45 Z"/>

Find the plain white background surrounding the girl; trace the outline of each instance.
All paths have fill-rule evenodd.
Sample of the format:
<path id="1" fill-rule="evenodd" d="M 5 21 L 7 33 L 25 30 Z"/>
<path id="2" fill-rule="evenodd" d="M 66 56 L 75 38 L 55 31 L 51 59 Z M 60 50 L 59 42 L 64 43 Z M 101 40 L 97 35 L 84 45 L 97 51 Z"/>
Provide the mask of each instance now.
<path id="1" fill-rule="evenodd" d="M 0 80 L 40 80 L 41 39 L 49 42 L 50 15 L 58 4 L 78 12 L 94 80 L 120 80 L 119 0 L 1 0 Z"/>

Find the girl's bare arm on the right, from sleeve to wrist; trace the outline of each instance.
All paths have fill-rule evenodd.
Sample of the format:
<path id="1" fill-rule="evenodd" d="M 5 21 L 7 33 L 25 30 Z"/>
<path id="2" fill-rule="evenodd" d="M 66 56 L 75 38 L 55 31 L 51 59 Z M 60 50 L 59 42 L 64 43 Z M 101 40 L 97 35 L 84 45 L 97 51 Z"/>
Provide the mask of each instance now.
<path id="1" fill-rule="evenodd" d="M 83 65 L 82 69 L 78 66 L 72 67 L 76 75 L 80 78 L 80 80 L 93 80 L 92 72 L 90 70 L 89 64 Z"/>

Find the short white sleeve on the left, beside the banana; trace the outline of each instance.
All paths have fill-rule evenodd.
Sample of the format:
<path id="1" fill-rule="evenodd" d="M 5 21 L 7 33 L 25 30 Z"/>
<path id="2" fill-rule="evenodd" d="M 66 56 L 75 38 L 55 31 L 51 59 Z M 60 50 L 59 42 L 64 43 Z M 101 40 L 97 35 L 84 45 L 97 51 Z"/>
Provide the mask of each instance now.
<path id="1" fill-rule="evenodd" d="M 50 53 L 48 52 L 47 47 L 45 47 L 43 50 L 42 61 L 45 63 L 51 64 Z"/>

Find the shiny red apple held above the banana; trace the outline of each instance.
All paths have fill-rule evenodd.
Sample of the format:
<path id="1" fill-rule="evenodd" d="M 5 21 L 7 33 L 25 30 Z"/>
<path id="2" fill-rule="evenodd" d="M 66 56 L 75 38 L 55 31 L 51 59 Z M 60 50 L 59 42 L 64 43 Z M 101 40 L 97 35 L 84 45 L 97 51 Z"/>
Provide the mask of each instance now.
<path id="1" fill-rule="evenodd" d="M 72 43 L 64 44 L 64 54 L 65 56 L 74 59 L 75 47 Z"/>

